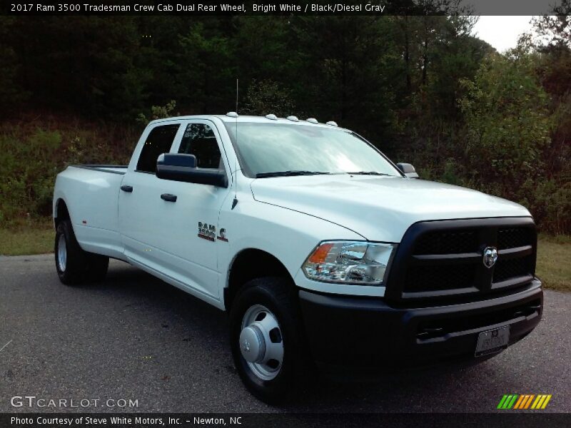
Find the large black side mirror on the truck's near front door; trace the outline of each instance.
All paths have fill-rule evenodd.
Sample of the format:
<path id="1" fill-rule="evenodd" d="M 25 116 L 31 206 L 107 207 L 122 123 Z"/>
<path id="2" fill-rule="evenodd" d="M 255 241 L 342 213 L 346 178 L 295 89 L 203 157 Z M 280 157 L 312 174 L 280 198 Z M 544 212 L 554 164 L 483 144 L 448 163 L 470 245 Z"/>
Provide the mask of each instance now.
<path id="1" fill-rule="evenodd" d="M 158 156 L 156 176 L 163 180 L 228 187 L 228 177 L 223 170 L 196 168 L 196 156 L 183 153 L 163 153 Z"/>

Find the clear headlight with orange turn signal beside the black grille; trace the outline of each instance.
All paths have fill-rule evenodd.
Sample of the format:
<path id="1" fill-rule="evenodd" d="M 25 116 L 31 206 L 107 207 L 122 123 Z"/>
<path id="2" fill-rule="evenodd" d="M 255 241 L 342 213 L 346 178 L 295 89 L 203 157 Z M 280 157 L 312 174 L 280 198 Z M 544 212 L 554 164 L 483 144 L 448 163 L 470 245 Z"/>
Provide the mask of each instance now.
<path id="1" fill-rule="evenodd" d="M 358 241 L 323 242 L 305 260 L 303 272 L 310 280 L 381 285 L 394 248 Z"/>

